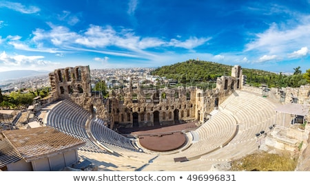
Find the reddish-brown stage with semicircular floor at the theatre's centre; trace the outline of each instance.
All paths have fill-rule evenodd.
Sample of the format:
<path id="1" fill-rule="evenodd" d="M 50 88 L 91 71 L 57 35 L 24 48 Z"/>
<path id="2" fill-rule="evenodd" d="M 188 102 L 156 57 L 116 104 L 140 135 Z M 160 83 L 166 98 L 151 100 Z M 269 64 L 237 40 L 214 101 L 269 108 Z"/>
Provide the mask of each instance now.
<path id="1" fill-rule="evenodd" d="M 186 136 L 182 131 L 196 129 L 197 127 L 197 122 L 187 122 L 171 126 L 128 128 L 121 129 L 121 131 L 136 135 L 139 143 L 145 149 L 165 152 L 173 151 L 182 147 L 187 141 Z"/>

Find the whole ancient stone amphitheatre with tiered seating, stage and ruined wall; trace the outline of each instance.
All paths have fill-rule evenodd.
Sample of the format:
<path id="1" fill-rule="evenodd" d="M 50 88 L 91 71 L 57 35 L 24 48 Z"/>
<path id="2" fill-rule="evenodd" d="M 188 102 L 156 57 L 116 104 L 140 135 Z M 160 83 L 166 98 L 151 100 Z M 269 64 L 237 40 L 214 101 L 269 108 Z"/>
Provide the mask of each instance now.
<path id="1" fill-rule="evenodd" d="M 225 169 L 218 164 L 258 150 L 294 152 L 300 143 L 302 151 L 307 148 L 309 127 L 294 129 L 292 118 L 309 121 L 310 86 L 267 89 L 266 94 L 245 85 L 238 65 L 231 76 L 218 78 L 214 89 L 129 87 L 108 99 L 91 91 L 87 66 L 56 69 L 50 80 L 52 96 L 41 101 L 37 117 L 43 126 L 83 140 L 79 162 L 90 162 L 98 171 L 219 171 Z M 297 107 L 292 111 L 291 105 Z M 148 127 L 164 129 L 120 133 Z M 154 136 L 156 147 L 166 146 L 173 143 L 172 135 L 185 138 L 172 149 L 156 151 L 142 142 Z"/>

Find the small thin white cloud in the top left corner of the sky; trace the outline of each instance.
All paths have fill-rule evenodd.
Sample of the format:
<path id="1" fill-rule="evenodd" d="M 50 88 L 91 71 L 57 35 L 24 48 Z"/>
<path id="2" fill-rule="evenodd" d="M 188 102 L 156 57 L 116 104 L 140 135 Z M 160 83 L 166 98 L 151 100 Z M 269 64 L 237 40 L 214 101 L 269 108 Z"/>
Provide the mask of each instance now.
<path id="1" fill-rule="evenodd" d="M 9 1 L 1 1 L 0 8 L 9 8 L 11 10 L 21 12 L 23 14 L 34 14 L 40 11 L 40 8 L 36 6 L 24 6 L 21 3 L 13 3 Z"/>

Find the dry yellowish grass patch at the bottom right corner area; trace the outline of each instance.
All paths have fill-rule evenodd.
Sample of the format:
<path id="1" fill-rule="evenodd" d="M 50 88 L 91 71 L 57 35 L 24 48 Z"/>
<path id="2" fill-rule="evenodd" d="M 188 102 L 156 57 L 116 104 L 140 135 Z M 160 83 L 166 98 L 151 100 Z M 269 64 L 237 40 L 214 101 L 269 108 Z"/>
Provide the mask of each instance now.
<path id="1" fill-rule="evenodd" d="M 231 162 L 231 171 L 295 171 L 298 157 L 267 152 L 247 155 Z"/>

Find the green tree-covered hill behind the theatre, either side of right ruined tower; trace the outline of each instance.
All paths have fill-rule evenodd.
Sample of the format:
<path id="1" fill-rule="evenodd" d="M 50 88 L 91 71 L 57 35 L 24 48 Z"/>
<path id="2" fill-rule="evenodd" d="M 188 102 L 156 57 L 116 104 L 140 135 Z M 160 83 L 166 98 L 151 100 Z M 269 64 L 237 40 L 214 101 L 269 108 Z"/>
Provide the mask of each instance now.
<path id="1" fill-rule="evenodd" d="M 216 78 L 230 76 L 232 65 L 223 65 L 210 61 L 188 60 L 182 63 L 159 67 L 152 75 L 165 76 L 178 80 L 178 85 L 196 85 L 212 87 Z M 310 83 L 310 69 L 302 74 L 300 67 L 293 69 L 293 75 L 276 74 L 260 69 L 247 69 L 242 67 L 242 73 L 247 76 L 247 84 L 259 87 L 262 84 L 268 87 L 300 87 Z"/>

